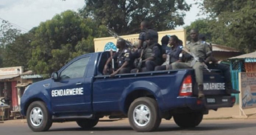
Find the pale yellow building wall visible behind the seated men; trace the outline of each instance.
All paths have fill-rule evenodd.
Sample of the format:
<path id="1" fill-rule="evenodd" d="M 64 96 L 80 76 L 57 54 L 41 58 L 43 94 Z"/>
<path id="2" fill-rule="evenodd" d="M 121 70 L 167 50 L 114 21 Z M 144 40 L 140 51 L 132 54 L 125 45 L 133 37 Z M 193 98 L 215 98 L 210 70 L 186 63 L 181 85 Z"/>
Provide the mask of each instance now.
<path id="1" fill-rule="evenodd" d="M 167 31 L 162 31 L 158 32 L 158 42 L 161 44 L 161 39 L 165 35 L 176 35 L 180 40 L 183 41 L 183 45 L 186 43 L 186 30 L 181 29 L 181 30 L 167 30 Z M 130 41 L 132 44 L 134 44 L 135 41 L 138 41 L 139 34 L 131 34 L 131 35 L 124 35 L 120 36 L 125 40 Z M 96 38 L 94 39 L 94 49 L 95 52 L 100 52 L 104 50 L 105 44 L 108 42 L 113 42 L 116 44 L 117 39 L 114 37 L 102 37 L 102 38 Z"/>

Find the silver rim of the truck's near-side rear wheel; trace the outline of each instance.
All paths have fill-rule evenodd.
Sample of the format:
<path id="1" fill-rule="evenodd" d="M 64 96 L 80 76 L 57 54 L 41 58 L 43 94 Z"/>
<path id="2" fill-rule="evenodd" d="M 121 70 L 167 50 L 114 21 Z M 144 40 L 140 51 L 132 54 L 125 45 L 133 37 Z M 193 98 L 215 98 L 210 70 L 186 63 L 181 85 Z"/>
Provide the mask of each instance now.
<path id="1" fill-rule="evenodd" d="M 138 105 L 133 111 L 134 122 L 143 127 L 147 125 L 150 121 L 150 110 L 146 105 Z"/>

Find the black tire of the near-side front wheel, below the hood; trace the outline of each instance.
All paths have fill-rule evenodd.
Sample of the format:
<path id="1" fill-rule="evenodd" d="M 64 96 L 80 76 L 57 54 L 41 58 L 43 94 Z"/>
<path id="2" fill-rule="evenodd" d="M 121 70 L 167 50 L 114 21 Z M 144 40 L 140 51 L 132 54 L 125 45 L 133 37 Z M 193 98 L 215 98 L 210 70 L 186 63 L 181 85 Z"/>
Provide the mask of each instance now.
<path id="1" fill-rule="evenodd" d="M 32 102 L 28 106 L 26 118 L 28 127 L 34 132 L 47 131 L 53 124 L 47 107 L 42 101 Z"/>

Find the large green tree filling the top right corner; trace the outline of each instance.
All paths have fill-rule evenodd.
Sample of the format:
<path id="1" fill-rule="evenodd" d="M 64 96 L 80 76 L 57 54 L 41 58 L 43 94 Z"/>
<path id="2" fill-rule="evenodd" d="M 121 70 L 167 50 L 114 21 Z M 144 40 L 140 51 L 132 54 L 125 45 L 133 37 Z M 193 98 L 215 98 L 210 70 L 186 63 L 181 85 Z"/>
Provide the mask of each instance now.
<path id="1" fill-rule="evenodd" d="M 215 43 L 246 53 L 256 50 L 255 0 L 203 0 L 202 6 L 210 20 L 216 20 L 212 30 Z"/>

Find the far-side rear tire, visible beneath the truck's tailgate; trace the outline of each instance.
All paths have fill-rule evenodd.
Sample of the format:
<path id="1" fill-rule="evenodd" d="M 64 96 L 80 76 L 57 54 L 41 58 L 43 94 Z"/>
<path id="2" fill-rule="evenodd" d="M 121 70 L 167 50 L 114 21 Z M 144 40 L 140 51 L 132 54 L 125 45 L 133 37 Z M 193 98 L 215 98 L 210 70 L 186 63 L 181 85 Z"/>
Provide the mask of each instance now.
<path id="1" fill-rule="evenodd" d="M 202 119 L 202 113 L 186 113 L 186 114 L 174 114 L 175 123 L 182 128 L 193 128 L 198 126 Z"/>

